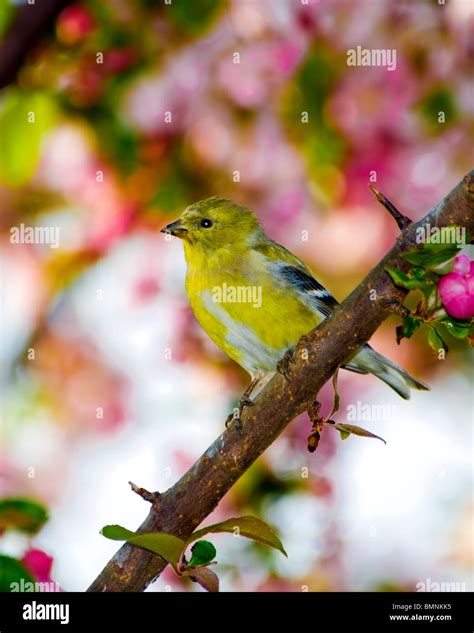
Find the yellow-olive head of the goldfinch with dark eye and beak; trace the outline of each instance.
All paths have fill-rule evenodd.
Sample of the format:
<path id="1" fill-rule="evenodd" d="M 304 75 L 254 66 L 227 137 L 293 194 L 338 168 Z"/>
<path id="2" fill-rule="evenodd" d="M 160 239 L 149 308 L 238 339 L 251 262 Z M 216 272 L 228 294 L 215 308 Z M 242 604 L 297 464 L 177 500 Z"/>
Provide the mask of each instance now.
<path id="1" fill-rule="evenodd" d="M 161 232 L 181 238 L 188 247 L 209 251 L 249 246 L 262 229 L 250 209 L 223 198 L 207 198 L 189 206 Z"/>

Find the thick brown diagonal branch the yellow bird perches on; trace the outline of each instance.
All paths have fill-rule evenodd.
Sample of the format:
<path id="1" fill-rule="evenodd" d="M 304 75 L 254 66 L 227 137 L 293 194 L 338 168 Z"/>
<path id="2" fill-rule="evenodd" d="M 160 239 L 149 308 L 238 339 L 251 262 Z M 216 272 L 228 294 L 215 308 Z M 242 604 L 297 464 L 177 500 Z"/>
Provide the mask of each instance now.
<path id="1" fill-rule="evenodd" d="M 384 267 L 407 270 L 409 264 L 400 255 L 416 245 L 417 227 L 456 224 L 473 235 L 473 210 L 474 171 L 423 220 L 407 226 L 392 250 L 331 317 L 302 337 L 287 363 L 287 378 L 277 374 L 255 404 L 244 409 L 241 434 L 232 428 L 224 431 L 188 472 L 156 499 L 139 531 L 167 532 L 187 539 L 285 427 L 310 408 L 339 365 L 370 339 L 393 312 L 390 305 L 403 301 L 406 292 L 392 283 Z M 159 556 L 127 543 L 88 591 L 143 591 L 165 567 Z"/>

